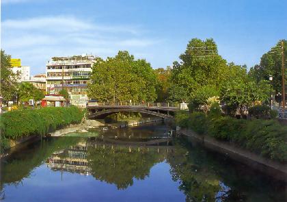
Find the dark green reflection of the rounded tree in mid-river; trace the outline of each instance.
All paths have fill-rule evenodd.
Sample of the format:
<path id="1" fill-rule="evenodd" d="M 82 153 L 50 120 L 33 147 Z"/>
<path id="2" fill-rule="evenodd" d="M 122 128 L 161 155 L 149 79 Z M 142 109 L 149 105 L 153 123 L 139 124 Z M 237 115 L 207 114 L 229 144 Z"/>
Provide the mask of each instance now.
<path id="1" fill-rule="evenodd" d="M 154 164 L 164 160 L 161 153 L 141 152 L 128 147 L 96 147 L 87 150 L 91 174 L 100 181 L 115 184 L 118 190 L 133 185 L 134 179 L 145 179 Z"/>

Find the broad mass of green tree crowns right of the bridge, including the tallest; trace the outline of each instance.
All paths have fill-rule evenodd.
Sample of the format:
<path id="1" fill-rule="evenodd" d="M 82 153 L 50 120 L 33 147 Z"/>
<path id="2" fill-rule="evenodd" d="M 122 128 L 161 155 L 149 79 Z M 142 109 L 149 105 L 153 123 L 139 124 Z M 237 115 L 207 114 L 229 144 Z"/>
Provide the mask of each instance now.
<path id="1" fill-rule="evenodd" d="M 181 62 L 174 62 L 171 71 L 169 100 L 189 101 L 192 109 L 208 105 L 214 98 L 235 109 L 252 105 L 255 101 L 268 100 L 268 86 L 256 82 L 247 74 L 245 65 L 227 63 L 217 51 L 213 39 L 193 38 L 180 55 Z"/>

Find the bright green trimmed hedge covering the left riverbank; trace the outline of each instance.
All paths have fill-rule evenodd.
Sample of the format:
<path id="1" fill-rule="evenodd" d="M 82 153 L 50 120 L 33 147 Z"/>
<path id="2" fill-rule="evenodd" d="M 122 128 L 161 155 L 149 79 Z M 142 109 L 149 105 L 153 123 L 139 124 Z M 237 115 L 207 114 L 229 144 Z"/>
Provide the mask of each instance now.
<path id="1" fill-rule="evenodd" d="M 76 107 L 14 110 L 1 114 L 1 150 L 10 147 L 10 140 L 25 136 L 43 136 L 72 123 L 81 123 L 83 112 Z"/>

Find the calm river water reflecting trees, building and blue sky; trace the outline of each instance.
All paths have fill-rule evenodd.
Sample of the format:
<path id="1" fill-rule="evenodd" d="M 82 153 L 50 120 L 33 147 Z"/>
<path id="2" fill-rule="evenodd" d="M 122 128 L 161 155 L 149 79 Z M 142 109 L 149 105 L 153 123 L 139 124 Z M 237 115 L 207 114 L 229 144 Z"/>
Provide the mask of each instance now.
<path id="1" fill-rule="evenodd" d="M 285 185 L 170 138 L 165 125 L 29 144 L 1 164 L 3 201 L 286 201 Z M 83 136 L 84 134 L 78 134 Z"/>

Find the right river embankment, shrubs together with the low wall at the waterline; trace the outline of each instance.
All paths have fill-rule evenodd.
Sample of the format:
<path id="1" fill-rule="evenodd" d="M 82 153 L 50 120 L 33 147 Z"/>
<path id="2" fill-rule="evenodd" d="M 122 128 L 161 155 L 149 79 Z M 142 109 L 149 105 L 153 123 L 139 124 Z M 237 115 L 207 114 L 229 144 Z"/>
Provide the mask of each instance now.
<path id="1" fill-rule="evenodd" d="M 176 124 L 204 147 L 287 179 L 287 127 L 275 119 L 232 118 L 221 112 L 178 112 Z"/>

